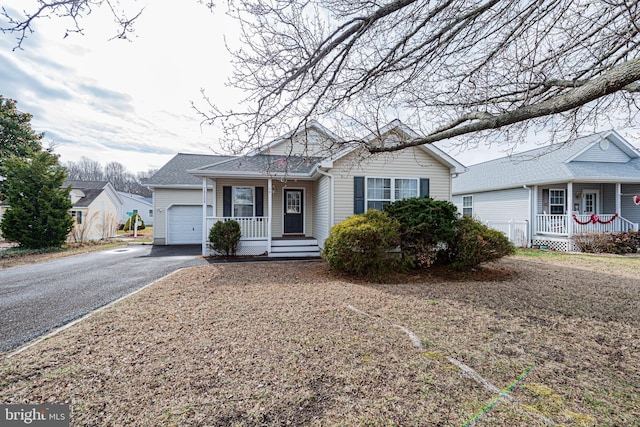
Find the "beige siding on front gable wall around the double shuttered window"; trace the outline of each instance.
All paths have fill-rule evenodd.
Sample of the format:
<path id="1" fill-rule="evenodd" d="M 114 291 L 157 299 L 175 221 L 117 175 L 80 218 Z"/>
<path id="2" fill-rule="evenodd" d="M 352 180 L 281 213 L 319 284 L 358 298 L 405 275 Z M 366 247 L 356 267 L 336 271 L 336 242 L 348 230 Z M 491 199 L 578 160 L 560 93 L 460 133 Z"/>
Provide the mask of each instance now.
<path id="1" fill-rule="evenodd" d="M 331 169 L 335 177 L 335 222 L 353 215 L 353 177 L 429 178 L 430 196 L 438 200 L 451 200 L 451 174 L 449 167 L 418 147 L 397 153 L 381 153 L 362 159 L 355 150 L 336 161 Z"/>

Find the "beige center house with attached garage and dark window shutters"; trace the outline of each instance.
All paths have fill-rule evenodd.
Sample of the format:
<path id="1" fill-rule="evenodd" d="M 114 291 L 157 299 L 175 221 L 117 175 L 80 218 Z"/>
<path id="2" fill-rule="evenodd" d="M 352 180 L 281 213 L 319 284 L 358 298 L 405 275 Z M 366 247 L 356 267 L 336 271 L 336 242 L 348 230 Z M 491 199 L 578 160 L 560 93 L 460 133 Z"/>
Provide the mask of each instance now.
<path id="1" fill-rule="evenodd" d="M 380 134 L 365 142 L 418 136 L 399 121 Z M 464 170 L 431 145 L 369 155 L 312 121 L 246 156 L 176 155 L 147 182 L 154 244 L 210 254 L 208 231 L 233 218 L 239 255 L 317 256 L 334 224 L 405 197 L 450 200 L 451 177 Z"/>

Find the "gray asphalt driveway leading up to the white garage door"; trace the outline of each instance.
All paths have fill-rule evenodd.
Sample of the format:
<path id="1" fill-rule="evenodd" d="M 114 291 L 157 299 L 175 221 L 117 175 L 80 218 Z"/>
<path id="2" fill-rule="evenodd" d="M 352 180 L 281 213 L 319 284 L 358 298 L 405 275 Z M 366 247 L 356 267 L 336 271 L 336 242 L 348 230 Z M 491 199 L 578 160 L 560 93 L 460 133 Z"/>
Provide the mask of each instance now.
<path id="1" fill-rule="evenodd" d="M 206 263 L 199 255 L 199 245 L 130 245 L 0 270 L 0 351 L 177 269 Z"/>

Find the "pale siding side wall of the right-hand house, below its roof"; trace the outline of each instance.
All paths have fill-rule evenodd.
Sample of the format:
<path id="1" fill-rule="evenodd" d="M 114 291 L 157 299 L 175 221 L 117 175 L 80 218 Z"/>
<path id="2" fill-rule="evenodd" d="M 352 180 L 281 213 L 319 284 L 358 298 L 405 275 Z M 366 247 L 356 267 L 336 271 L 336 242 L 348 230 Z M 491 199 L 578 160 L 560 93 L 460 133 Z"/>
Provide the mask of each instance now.
<path id="1" fill-rule="evenodd" d="M 462 213 L 462 197 L 473 196 L 473 216 L 481 221 L 525 221 L 529 219 L 529 190 L 514 188 L 457 195 L 454 204 Z"/>

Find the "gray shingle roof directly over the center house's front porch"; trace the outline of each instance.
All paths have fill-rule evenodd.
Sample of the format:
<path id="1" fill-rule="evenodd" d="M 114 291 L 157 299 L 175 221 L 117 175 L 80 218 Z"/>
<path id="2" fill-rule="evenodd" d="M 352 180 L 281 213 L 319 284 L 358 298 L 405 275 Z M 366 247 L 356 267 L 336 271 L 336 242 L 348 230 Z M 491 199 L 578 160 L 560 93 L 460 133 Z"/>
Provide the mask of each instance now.
<path id="1" fill-rule="evenodd" d="M 220 163 L 198 168 L 193 173 L 238 173 L 238 174 L 302 174 L 311 173 L 321 157 L 296 157 L 275 154 L 236 157 Z"/>

